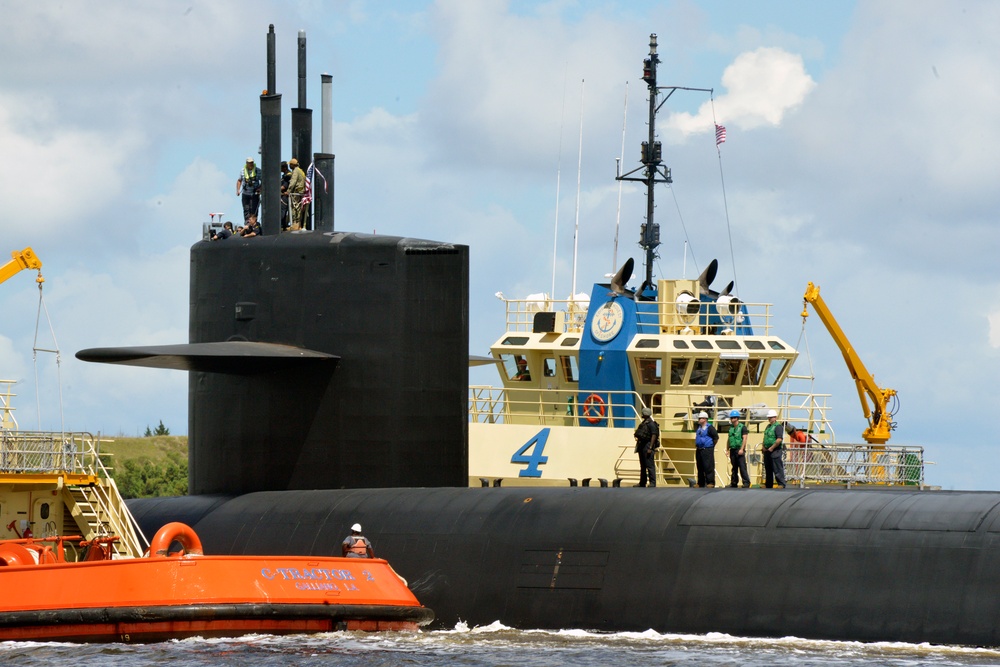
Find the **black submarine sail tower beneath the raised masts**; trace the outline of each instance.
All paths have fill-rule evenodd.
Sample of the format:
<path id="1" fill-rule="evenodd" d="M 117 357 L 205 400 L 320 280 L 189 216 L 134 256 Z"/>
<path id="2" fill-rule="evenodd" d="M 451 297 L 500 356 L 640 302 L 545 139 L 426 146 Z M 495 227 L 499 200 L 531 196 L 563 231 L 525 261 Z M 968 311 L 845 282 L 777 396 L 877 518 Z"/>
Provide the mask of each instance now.
<path id="1" fill-rule="evenodd" d="M 464 486 L 468 266 L 467 246 L 340 232 L 192 247 L 191 343 L 292 356 L 191 372 L 189 493 Z"/>

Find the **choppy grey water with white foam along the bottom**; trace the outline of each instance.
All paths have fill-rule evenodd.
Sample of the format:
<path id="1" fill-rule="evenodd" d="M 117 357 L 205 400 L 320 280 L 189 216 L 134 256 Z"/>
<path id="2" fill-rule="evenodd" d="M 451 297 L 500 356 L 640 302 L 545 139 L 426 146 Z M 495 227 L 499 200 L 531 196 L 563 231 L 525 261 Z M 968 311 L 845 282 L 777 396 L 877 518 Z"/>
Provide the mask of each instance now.
<path id="1" fill-rule="evenodd" d="M 511 630 L 500 624 L 420 633 L 330 633 L 163 644 L 0 643 L 0 663 L 20 667 L 170 665 L 1000 665 L 1000 650 L 924 644 L 750 639 L 729 635 Z"/>

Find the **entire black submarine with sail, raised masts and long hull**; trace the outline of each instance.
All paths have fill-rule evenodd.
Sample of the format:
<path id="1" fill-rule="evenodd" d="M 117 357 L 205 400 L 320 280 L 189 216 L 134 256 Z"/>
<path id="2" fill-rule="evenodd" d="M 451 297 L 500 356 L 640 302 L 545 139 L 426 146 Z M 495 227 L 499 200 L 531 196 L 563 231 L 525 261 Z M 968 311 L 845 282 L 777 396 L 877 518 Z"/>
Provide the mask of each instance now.
<path id="1" fill-rule="evenodd" d="M 273 53 L 272 26 L 277 174 Z M 434 627 L 1000 646 L 1000 493 L 470 488 L 468 247 L 337 231 L 325 131 L 312 160 L 329 187 L 310 228 L 280 232 L 265 180 L 262 236 L 192 246 L 187 343 L 77 353 L 189 373 L 189 494 L 129 501 L 146 534 L 180 521 L 212 553 L 329 555 L 360 522 Z"/>

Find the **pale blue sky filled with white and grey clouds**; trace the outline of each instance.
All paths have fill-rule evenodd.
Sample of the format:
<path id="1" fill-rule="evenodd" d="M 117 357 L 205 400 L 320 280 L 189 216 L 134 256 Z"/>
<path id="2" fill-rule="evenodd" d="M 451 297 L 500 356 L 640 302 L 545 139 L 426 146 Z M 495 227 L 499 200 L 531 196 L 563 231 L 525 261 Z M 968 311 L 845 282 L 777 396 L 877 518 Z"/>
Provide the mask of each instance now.
<path id="1" fill-rule="evenodd" d="M 716 287 L 774 304 L 794 372 L 859 442 L 844 361 L 800 317 L 820 285 L 899 392 L 891 444 L 925 447 L 931 484 L 1000 489 L 974 463 L 997 445 L 971 430 L 1000 407 L 1000 3 L 0 0 L 0 22 L 0 251 L 32 247 L 45 277 L 44 308 L 33 273 L 0 285 L 22 428 L 186 433 L 186 374 L 74 354 L 187 342 L 189 249 L 210 212 L 240 214 L 269 24 L 286 151 L 300 29 L 317 146 L 333 77 L 336 228 L 469 246 L 472 354 L 503 333 L 494 294 L 552 291 L 553 261 L 556 298 L 641 265 L 645 197 L 625 184 L 619 209 L 614 176 L 623 122 L 623 170 L 638 166 L 656 33 L 660 85 L 713 92 L 659 116 L 674 183 L 654 274 L 718 258 Z"/>

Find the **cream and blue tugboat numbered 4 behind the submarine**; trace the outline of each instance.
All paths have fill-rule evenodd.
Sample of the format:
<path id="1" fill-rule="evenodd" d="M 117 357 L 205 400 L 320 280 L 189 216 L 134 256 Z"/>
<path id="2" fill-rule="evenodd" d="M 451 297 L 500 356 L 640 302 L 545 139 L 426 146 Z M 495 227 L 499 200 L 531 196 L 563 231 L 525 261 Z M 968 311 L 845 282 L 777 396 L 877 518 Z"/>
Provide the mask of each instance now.
<path id="1" fill-rule="evenodd" d="M 618 176 L 646 186 L 640 242 L 645 278 L 637 289 L 628 286 L 629 259 L 610 283 L 594 284 L 589 300 L 545 294 L 504 299 L 506 331 L 490 348 L 502 385 L 470 387 L 470 485 L 606 486 L 611 480 L 631 486 L 640 478 L 632 432 L 648 408 L 660 432 L 658 486 L 692 485 L 697 416 L 705 413 L 724 441 L 734 412 L 749 427 L 747 463 L 759 485 L 763 430 L 773 410 L 787 431 L 789 484 L 923 487 L 923 448 L 886 445 L 894 425 L 882 403 L 895 392 L 871 386 L 818 288 L 810 283 L 806 302 L 844 351 L 862 403 L 866 394 L 876 403 L 865 407 L 864 444 L 838 439 L 828 417 L 829 395 L 792 387 L 811 378 L 792 374 L 798 351 L 774 330 L 772 304 L 743 301 L 733 282 L 712 288 L 718 261 L 695 280 L 654 280 L 660 244 L 654 186 L 672 182 L 656 139 L 656 112 L 680 89 L 657 86 L 658 62 L 654 34 L 643 63 L 649 137 L 642 142 L 641 166 Z M 716 131 L 718 146 L 719 126 Z M 641 177 L 633 176 L 640 171 Z M 726 447 L 715 452 L 716 485 L 726 486 Z"/>

